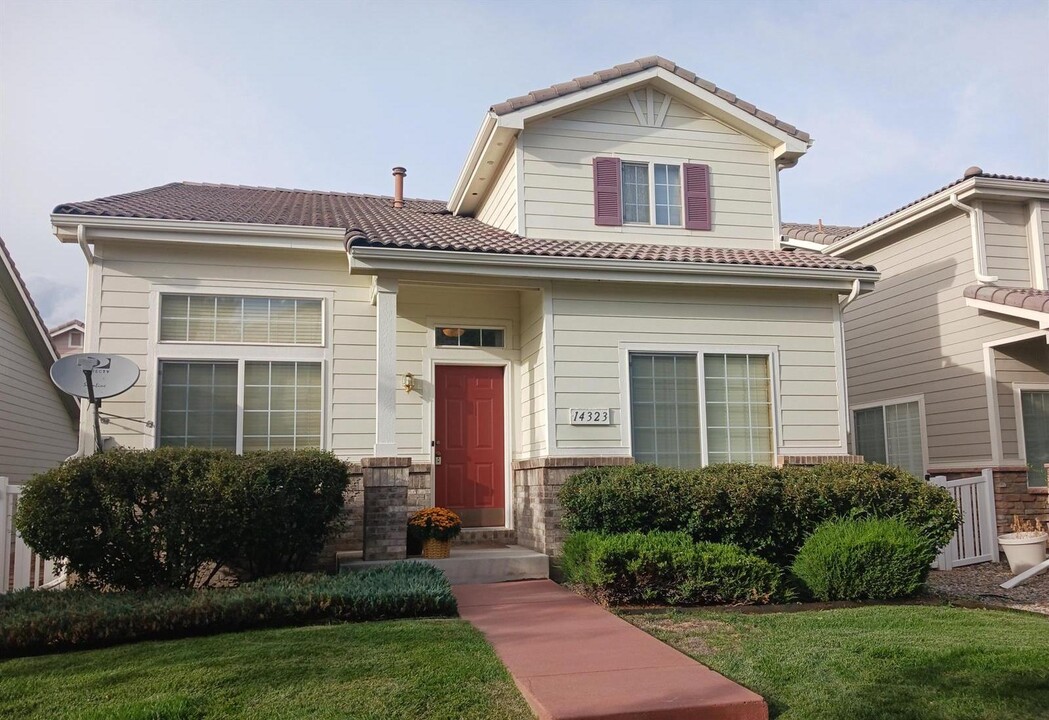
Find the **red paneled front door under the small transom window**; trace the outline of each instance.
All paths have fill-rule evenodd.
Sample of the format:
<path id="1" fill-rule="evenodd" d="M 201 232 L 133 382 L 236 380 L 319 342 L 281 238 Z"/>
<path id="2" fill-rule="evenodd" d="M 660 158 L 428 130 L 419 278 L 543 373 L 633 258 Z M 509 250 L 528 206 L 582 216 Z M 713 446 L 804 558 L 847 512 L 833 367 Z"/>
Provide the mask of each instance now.
<path id="1" fill-rule="evenodd" d="M 434 389 L 437 506 L 465 527 L 504 527 L 502 368 L 437 365 Z"/>

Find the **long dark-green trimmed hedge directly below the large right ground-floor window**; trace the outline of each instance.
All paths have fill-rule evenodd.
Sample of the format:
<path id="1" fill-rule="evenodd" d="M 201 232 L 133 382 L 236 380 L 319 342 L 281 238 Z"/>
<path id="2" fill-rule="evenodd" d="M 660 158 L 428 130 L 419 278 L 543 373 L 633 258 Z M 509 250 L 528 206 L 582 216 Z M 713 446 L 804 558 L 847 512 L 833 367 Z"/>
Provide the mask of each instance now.
<path id="1" fill-rule="evenodd" d="M 820 523 L 838 516 L 898 516 L 934 553 L 959 523 L 945 490 L 873 463 L 595 467 L 570 478 L 558 496 L 569 531 L 684 531 L 698 542 L 736 545 L 780 567 Z"/>

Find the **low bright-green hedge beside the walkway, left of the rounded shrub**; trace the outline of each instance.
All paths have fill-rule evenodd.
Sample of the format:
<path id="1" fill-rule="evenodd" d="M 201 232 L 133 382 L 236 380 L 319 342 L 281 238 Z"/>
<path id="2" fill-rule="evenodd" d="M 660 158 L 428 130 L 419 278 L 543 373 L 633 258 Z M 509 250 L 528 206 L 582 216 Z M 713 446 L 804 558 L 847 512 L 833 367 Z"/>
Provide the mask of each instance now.
<path id="1" fill-rule="evenodd" d="M 684 532 L 577 532 L 564 542 L 568 581 L 606 605 L 751 605 L 780 598 L 780 572 L 731 545 Z"/>

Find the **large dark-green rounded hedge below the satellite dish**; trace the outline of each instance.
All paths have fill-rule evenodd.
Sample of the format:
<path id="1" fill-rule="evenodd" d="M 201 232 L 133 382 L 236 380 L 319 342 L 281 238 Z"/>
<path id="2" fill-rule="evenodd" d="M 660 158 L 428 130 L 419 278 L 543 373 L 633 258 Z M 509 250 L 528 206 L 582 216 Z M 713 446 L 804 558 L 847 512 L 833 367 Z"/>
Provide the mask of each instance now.
<path id="1" fill-rule="evenodd" d="M 15 526 L 97 588 L 195 587 L 222 567 L 244 580 L 308 569 L 348 482 L 320 450 L 113 450 L 34 477 Z"/>

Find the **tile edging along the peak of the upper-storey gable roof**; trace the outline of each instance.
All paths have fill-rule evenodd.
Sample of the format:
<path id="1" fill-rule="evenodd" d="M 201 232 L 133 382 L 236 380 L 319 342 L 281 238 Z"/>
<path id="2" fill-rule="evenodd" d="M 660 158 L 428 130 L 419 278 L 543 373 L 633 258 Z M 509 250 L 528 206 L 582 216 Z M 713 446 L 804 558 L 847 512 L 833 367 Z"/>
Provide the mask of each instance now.
<path id="1" fill-rule="evenodd" d="M 798 130 L 790 123 L 785 123 L 775 115 L 754 107 L 745 100 L 736 98 L 735 94 L 729 92 L 725 88 L 718 87 L 710 81 L 699 78 L 694 72 L 686 70 L 677 63 L 657 55 L 651 55 L 647 58 L 640 58 L 634 62 L 623 63 L 622 65 L 616 65 L 615 67 L 609 67 L 604 70 L 598 70 L 591 75 L 570 80 L 566 83 L 557 83 L 555 85 L 551 85 L 550 87 L 544 87 L 541 90 L 532 90 L 528 94 L 523 94 L 518 98 L 511 98 L 505 103 L 497 103 L 492 106 L 491 110 L 497 115 L 505 115 L 513 112 L 514 110 L 519 110 L 522 107 L 537 105 L 548 100 L 554 100 L 555 98 L 563 98 L 564 96 L 572 94 L 573 92 L 585 90 L 587 87 L 594 87 L 595 85 L 600 85 L 611 80 L 616 80 L 617 78 L 625 78 L 657 66 L 662 67 L 669 72 L 673 72 L 679 78 L 702 87 L 708 92 L 714 93 L 719 98 L 735 105 L 741 110 L 749 112 L 758 120 L 783 130 L 789 135 L 797 137 L 804 143 L 808 143 L 812 140 L 808 132 Z"/>

